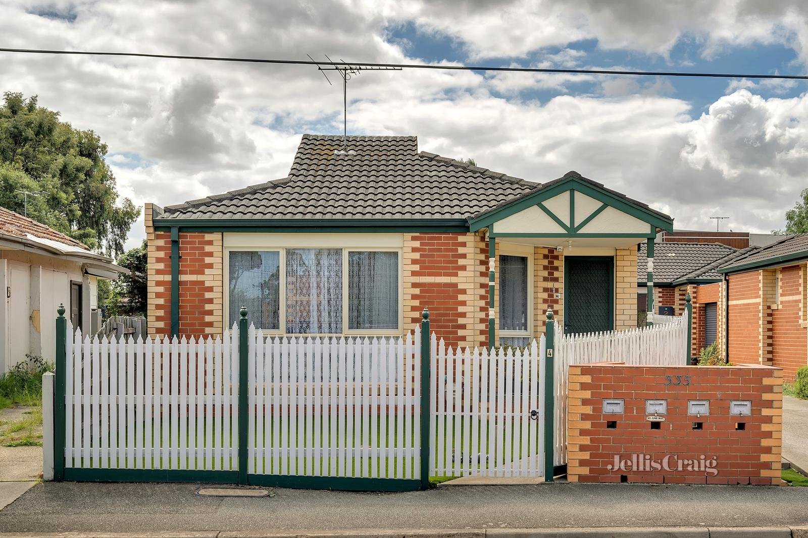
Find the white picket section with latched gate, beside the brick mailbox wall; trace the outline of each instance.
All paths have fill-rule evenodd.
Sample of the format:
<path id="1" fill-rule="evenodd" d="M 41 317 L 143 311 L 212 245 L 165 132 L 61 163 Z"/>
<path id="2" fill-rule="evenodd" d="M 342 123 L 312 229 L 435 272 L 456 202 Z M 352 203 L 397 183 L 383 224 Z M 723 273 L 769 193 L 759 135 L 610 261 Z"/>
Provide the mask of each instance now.
<path id="1" fill-rule="evenodd" d="M 430 473 L 542 476 L 545 336 L 524 352 L 489 353 L 447 348 L 433 334 L 431 350 Z"/>

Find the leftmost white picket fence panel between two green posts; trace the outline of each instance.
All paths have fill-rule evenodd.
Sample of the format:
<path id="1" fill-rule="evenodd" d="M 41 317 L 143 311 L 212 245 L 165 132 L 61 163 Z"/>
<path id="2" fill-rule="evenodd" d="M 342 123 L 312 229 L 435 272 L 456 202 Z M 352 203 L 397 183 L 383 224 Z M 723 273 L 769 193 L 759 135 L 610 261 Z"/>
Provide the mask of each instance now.
<path id="1" fill-rule="evenodd" d="M 65 467 L 238 468 L 238 338 L 82 340 L 67 327 Z"/>

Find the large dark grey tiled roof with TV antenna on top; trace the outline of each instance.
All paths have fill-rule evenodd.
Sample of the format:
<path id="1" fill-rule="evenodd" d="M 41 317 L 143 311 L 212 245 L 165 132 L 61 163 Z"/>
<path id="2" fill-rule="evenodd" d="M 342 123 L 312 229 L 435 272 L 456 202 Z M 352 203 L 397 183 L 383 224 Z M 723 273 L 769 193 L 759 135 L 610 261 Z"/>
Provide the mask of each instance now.
<path id="1" fill-rule="evenodd" d="M 163 219 L 465 219 L 539 184 L 418 152 L 415 136 L 304 135 L 288 177 L 166 206 Z"/>

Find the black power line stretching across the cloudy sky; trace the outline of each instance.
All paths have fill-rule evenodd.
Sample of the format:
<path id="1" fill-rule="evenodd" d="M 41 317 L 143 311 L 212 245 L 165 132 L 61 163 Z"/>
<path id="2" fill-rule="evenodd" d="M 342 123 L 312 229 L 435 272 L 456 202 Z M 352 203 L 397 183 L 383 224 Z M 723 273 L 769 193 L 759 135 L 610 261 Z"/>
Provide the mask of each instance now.
<path id="1" fill-rule="evenodd" d="M 223 61 L 250 64 L 278 65 L 318 65 L 323 62 L 314 60 L 277 60 L 270 58 L 236 58 L 229 56 L 183 56 L 179 54 L 147 54 L 145 52 L 99 52 L 99 51 L 65 51 L 45 50 L 38 48 L 0 48 L 0 52 L 23 52 L 28 54 L 65 54 L 74 56 L 128 56 L 136 58 L 163 58 L 169 60 L 203 60 Z M 637 77 L 709 77 L 709 78 L 755 78 L 776 80 L 806 80 L 808 75 L 761 75 L 752 73 L 686 73 L 681 71 L 625 71 L 618 69 L 549 69 L 540 67 L 499 67 L 495 65 L 434 65 L 434 64 L 390 64 L 380 62 L 346 62 L 335 61 L 335 66 L 346 68 L 402 68 L 402 69 L 440 69 L 445 71 L 507 71 L 516 73 L 563 73 L 579 75 L 631 75 Z"/>

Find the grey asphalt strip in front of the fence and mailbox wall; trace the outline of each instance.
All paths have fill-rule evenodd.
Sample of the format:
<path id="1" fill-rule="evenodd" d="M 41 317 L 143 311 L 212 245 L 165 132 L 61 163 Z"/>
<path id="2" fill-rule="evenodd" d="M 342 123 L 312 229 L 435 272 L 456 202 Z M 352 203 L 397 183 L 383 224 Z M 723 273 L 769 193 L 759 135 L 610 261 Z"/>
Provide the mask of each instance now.
<path id="1" fill-rule="evenodd" d="M 274 489 L 203 498 L 195 484 L 46 482 L 0 511 L 0 532 L 358 528 L 734 527 L 808 523 L 808 488 L 541 484 L 364 494 Z"/>

